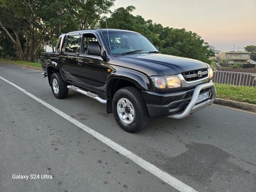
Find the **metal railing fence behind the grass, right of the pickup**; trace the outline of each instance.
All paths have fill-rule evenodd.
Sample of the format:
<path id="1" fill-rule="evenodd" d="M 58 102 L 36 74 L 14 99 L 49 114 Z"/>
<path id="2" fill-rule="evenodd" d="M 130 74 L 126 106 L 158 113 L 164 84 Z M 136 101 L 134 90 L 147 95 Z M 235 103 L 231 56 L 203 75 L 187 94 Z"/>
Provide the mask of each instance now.
<path id="1" fill-rule="evenodd" d="M 256 73 L 217 70 L 212 77 L 212 81 L 219 84 L 256 87 Z"/>

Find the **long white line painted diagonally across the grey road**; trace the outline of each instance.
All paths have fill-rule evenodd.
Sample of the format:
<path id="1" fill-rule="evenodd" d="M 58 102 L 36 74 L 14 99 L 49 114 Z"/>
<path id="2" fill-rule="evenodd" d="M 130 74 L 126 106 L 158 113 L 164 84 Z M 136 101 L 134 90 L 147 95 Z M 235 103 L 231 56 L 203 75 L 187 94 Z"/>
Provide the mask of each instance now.
<path id="1" fill-rule="evenodd" d="M 86 125 L 82 124 L 81 122 L 77 121 L 76 119 L 68 116 L 67 114 L 63 113 L 59 109 L 54 108 L 53 106 L 51 106 L 47 102 L 44 102 L 44 100 L 39 99 L 35 95 L 32 95 L 31 93 L 29 93 L 26 90 L 20 88 L 19 86 L 17 86 L 16 84 L 8 81 L 7 79 L 4 79 L 1 76 L 0 76 L 0 79 L 3 79 L 3 81 L 6 81 L 6 83 L 12 84 L 12 86 L 17 88 L 21 92 L 25 93 L 26 95 L 28 95 L 32 99 L 35 99 L 37 102 L 40 102 L 40 104 L 42 104 L 45 107 L 51 109 L 52 111 L 54 111 L 58 115 L 62 116 L 63 118 L 65 118 L 66 120 L 71 122 L 72 124 L 74 124 L 77 127 L 83 129 L 84 131 L 88 132 L 89 134 L 91 134 L 92 136 L 94 136 L 98 140 L 102 141 L 103 143 L 105 143 L 109 147 L 113 148 L 114 150 L 116 150 L 117 152 L 122 154 L 123 156 L 128 157 L 129 159 L 134 161 L 134 163 L 138 164 L 139 166 L 141 166 L 142 168 L 144 168 L 148 172 L 152 173 L 153 175 L 155 175 L 159 179 L 161 179 L 164 182 L 168 183 L 173 188 L 175 188 L 175 189 L 177 189 L 179 191 L 182 191 L 182 192 L 197 192 L 195 189 L 191 188 L 187 184 L 184 184 L 183 182 L 181 182 L 180 180 L 176 179 L 172 175 L 169 175 L 168 173 L 164 172 L 163 170 L 160 170 L 159 168 L 154 166 L 154 164 L 151 164 L 148 161 L 145 161 L 144 159 L 142 159 L 141 157 L 139 157 L 136 154 L 132 153 L 131 151 L 127 150 L 126 148 L 122 147 L 121 145 L 118 145 L 117 143 L 115 143 L 114 141 L 110 140 L 109 138 L 106 138 L 106 136 L 103 136 L 99 132 L 93 131 L 93 129 L 91 129 L 90 127 L 87 127 Z"/>

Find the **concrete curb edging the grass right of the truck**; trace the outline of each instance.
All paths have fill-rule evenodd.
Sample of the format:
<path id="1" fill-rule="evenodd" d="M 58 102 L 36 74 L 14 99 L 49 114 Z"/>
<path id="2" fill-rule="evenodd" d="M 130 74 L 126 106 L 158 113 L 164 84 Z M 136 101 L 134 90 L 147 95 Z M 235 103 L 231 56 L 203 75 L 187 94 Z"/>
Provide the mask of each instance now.
<path id="1" fill-rule="evenodd" d="M 221 106 L 227 106 L 230 108 L 243 109 L 246 111 L 251 111 L 253 113 L 256 113 L 256 105 L 254 105 L 254 104 L 248 104 L 248 103 L 244 103 L 244 102 L 218 99 L 218 98 L 215 99 L 214 104 L 218 104 Z"/>

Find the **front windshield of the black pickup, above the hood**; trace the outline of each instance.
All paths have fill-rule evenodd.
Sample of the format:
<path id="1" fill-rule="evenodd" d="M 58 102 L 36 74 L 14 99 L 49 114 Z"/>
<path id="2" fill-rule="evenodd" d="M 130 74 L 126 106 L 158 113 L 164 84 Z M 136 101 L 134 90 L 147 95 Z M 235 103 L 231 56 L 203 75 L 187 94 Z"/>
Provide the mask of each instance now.
<path id="1" fill-rule="evenodd" d="M 145 36 L 129 31 L 104 31 L 104 39 L 112 54 L 158 52 Z"/>

